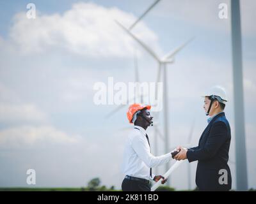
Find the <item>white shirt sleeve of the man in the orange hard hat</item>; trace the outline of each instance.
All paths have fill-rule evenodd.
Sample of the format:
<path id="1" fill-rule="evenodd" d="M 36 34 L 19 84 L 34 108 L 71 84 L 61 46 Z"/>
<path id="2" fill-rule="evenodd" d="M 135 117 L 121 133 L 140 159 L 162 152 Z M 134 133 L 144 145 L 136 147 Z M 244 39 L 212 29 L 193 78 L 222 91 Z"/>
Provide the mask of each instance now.
<path id="1" fill-rule="evenodd" d="M 171 153 L 164 154 L 162 156 L 153 156 L 150 153 L 150 147 L 148 142 L 143 140 L 140 136 L 135 136 L 132 140 L 132 148 L 138 154 L 138 157 L 148 166 L 152 168 L 168 163 L 172 158 Z"/>

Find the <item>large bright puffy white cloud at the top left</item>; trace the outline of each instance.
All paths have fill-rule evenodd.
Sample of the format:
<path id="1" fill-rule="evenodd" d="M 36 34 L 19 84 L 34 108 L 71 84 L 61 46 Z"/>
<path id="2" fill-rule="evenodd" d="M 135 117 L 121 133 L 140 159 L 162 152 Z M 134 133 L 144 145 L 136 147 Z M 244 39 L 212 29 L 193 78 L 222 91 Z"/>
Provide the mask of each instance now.
<path id="1" fill-rule="evenodd" d="M 35 20 L 18 13 L 10 36 L 23 54 L 65 48 L 88 57 L 127 57 L 133 51 L 133 40 L 115 24 L 115 19 L 127 26 L 136 20 L 118 8 L 76 3 L 63 15 L 38 15 Z M 141 23 L 136 33 L 157 48 L 157 36 L 145 24 Z"/>

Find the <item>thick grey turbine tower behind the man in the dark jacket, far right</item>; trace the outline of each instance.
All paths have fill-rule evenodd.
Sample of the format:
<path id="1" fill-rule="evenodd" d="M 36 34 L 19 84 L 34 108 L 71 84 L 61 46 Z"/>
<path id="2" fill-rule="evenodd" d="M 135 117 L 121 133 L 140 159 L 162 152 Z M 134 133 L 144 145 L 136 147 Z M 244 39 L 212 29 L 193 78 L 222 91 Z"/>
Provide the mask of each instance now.
<path id="1" fill-rule="evenodd" d="M 243 66 L 239 0 L 231 1 L 231 25 L 236 132 L 236 186 L 238 191 L 246 191 L 248 189 L 248 180 L 244 131 Z"/>

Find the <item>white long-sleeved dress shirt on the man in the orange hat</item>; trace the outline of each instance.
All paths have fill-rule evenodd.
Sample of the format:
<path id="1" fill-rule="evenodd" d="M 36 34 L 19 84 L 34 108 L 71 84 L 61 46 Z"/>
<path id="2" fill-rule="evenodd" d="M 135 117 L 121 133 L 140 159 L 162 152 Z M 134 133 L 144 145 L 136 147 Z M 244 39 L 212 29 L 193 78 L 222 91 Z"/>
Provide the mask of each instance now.
<path id="1" fill-rule="evenodd" d="M 171 152 L 153 156 L 150 153 L 145 129 L 134 126 L 125 143 L 122 171 L 124 175 L 153 180 L 155 175 L 152 173 L 150 177 L 150 168 L 168 163 L 171 158 Z"/>

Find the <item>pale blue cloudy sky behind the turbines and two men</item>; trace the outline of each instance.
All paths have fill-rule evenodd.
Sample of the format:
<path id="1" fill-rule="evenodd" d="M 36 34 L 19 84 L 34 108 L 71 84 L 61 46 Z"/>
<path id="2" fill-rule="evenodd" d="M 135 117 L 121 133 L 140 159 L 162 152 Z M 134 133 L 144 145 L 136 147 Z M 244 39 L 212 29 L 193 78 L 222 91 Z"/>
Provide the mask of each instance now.
<path id="1" fill-rule="evenodd" d="M 99 177 L 102 185 L 121 188 L 122 152 L 132 129 L 128 106 L 106 118 L 118 106 L 96 105 L 93 87 L 99 82 L 108 86 L 109 77 L 114 83 L 134 82 L 134 52 L 140 82 L 156 81 L 155 59 L 115 23 L 129 27 L 153 2 L 33 1 L 35 19 L 26 15 L 29 1 L 0 2 L 0 187 L 81 187 Z M 218 16 L 221 3 L 228 6 L 227 19 Z M 253 188 L 255 10 L 255 1 L 241 1 L 246 161 L 248 187 Z M 228 164 L 236 189 L 230 29 L 230 1 L 161 0 L 132 33 L 159 57 L 195 36 L 167 65 L 170 147 L 188 143 L 192 127 L 191 144 L 197 145 L 207 126 L 200 96 L 213 85 L 225 87 L 232 131 Z M 156 121 L 161 130 L 163 111 Z M 154 153 L 154 128 L 147 131 Z M 157 154 L 165 154 L 158 139 Z M 195 187 L 196 162 L 173 172 L 170 182 L 176 189 L 188 189 L 188 165 Z M 26 182 L 28 169 L 36 171 L 34 186 Z M 164 168 L 157 173 L 163 174 Z"/>

